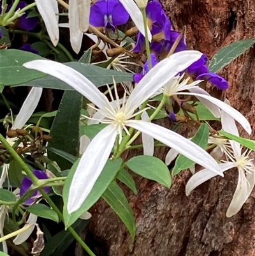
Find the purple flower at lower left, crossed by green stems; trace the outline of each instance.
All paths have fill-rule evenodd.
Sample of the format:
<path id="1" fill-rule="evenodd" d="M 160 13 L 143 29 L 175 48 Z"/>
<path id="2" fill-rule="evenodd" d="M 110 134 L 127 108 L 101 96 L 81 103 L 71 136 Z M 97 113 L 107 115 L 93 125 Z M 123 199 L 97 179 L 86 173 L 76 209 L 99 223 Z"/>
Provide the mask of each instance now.
<path id="1" fill-rule="evenodd" d="M 48 176 L 43 170 L 34 170 L 33 174 L 38 177 L 38 179 L 48 179 Z M 24 195 L 24 193 L 31 187 L 32 181 L 29 177 L 25 176 L 21 185 L 20 185 L 20 197 Z M 44 188 L 45 192 L 50 192 L 50 187 L 45 186 Z M 31 197 L 27 199 L 24 204 L 33 204 L 34 200 L 41 196 L 41 193 L 38 190 L 35 190 Z"/>

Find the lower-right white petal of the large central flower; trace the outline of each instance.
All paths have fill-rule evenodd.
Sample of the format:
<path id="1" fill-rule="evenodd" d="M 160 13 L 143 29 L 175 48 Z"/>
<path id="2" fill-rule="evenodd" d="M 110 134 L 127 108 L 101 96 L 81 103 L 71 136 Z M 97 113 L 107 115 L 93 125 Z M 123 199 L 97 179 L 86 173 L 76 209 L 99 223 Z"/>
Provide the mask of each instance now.
<path id="1" fill-rule="evenodd" d="M 129 120 L 126 122 L 126 125 L 131 126 L 140 132 L 147 133 L 151 137 L 154 137 L 154 139 L 166 144 L 168 147 L 172 147 L 176 151 L 179 151 L 180 154 L 183 154 L 190 160 L 211 170 L 215 174 L 223 176 L 222 170 L 217 162 L 215 162 L 214 158 L 200 146 L 194 144 L 194 142 L 182 137 L 182 135 L 157 124 L 147 123 L 140 120 Z"/>

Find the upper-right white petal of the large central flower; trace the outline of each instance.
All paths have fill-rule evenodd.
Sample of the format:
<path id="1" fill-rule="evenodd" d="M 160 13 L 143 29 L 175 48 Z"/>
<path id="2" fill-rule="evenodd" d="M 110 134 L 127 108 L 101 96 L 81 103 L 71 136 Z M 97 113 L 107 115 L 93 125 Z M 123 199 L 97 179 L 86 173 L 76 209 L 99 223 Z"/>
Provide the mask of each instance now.
<path id="1" fill-rule="evenodd" d="M 171 55 L 154 66 L 130 94 L 126 102 L 127 111 L 134 112 L 159 88 L 173 79 L 177 73 L 186 70 L 194 61 L 200 59 L 201 55 L 201 52 L 196 50 L 184 50 Z"/>

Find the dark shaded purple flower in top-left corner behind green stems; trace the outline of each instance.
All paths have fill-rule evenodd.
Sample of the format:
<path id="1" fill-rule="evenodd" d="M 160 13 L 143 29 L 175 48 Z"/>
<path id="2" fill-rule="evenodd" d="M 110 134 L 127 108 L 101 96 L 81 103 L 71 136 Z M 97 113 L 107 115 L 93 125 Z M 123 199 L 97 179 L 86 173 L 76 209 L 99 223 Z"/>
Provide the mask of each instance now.
<path id="1" fill-rule="evenodd" d="M 6 12 L 10 11 L 11 6 L 12 4 L 8 5 Z M 15 11 L 17 11 L 18 9 L 22 9 L 25 6 L 27 6 L 27 4 L 24 1 L 21 1 L 20 3 L 18 3 L 17 7 L 15 8 Z M 38 24 L 38 17 L 27 18 L 29 12 L 30 11 L 25 11 L 25 14 L 18 18 L 19 27 L 27 31 L 34 29 L 34 27 L 36 27 L 36 25 Z"/>

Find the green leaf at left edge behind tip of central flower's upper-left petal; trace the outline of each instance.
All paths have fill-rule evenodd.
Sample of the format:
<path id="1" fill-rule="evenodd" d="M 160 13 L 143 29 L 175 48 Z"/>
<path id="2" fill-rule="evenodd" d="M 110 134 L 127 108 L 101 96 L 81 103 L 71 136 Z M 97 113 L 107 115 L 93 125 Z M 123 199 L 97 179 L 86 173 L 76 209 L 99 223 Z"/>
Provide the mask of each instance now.
<path id="1" fill-rule="evenodd" d="M 1 86 L 13 86 L 17 84 L 24 84 L 33 79 L 45 77 L 44 73 L 36 70 L 29 70 L 24 68 L 22 64 L 27 61 L 33 61 L 34 59 L 43 59 L 37 54 L 32 52 L 25 52 L 24 50 L 0 50 L 0 85 Z"/>

